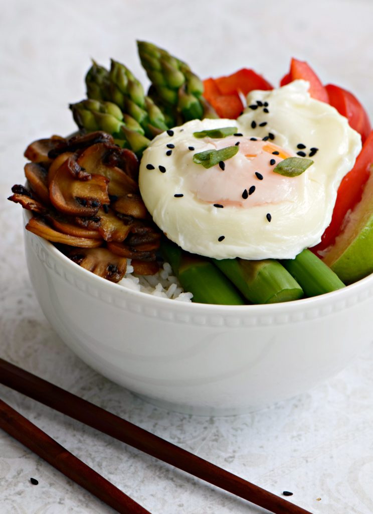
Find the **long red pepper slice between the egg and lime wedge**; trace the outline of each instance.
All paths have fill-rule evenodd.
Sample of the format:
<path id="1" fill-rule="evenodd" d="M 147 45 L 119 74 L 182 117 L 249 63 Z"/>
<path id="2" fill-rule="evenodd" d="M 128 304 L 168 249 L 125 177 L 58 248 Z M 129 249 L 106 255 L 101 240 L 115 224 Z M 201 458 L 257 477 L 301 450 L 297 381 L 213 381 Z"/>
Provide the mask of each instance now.
<path id="1" fill-rule="evenodd" d="M 311 248 L 313 253 L 318 254 L 335 242 L 337 235 L 343 228 L 343 221 L 347 212 L 353 209 L 361 200 L 364 185 L 369 178 L 372 164 L 373 131 L 363 144 L 363 148 L 356 159 L 354 168 L 344 176 L 338 188 L 336 205 L 334 206 L 330 225 L 323 233 L 321 243 Z"/>

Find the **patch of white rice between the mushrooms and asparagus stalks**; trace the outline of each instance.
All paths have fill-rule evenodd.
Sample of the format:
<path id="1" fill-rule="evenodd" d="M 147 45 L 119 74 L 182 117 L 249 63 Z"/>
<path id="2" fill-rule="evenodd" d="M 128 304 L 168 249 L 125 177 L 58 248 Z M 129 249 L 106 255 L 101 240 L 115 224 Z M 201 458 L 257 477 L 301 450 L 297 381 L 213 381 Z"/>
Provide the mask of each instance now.
<path id="1" fill-rule="evenodd" d="M 165 262 L 163 267 L 155 275 L 135 275 L 130 259 L 127 259 L 127 270 L 119 285 L 141 291 L 147 295 L 170 298 L 179 302 L 191 302 L 192 293 L 185 292 L 178 279 L 172 274 L 172 268 Z"/>

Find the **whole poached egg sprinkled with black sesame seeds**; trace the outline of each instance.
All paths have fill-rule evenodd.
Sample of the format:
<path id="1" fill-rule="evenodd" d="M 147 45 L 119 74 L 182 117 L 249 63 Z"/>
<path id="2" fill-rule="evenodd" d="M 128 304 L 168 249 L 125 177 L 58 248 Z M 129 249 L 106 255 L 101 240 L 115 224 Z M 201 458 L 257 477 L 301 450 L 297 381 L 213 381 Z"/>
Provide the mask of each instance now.
<path id="1" fill-rule="evenodd" d="M 321 240 L 337 190 L 354 166 L 361 137 L 308 82 L 251 91 L 237 120 L 192 120 L 155 137 L 139 185 L 156 225 L 191 253 L 215 259 L 293 259 Z M 227 137 L 196 137 L 230 127 Z M 195 154 L 237 146 L 205 168 Z M 298 176 L 274 172 L 288 157 L 313 163 Z"/>

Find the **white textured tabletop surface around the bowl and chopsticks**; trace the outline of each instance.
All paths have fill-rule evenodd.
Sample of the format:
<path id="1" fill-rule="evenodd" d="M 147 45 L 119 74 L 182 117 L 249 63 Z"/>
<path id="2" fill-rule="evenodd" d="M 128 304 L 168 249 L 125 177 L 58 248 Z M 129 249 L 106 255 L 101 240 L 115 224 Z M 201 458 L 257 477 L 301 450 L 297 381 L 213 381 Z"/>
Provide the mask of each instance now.
<path id="1" fill-rule="evenodd" d="M 27 143 L 73 129 L 66 105 L 83 97 L 91 56 L 103 64 L 122 60 L 144 79 L 136 38 L 172 50 L 201 76 L 246 65 L 275 82 L 295 55 L 325 82 L 355 91 L 373 113 L 373 4 L 35 4 L 8 2 L 0 19 L 0 355 L 274 493 L 291 490 L 290 501 L 315 514 L 371 514 L 373 351 L 308 394 L 251 415 L 211 419 L 154 408 L 97 375 L 58 340 L 30 288 L 21 208 L 4 198 L 23 181 Z M 264 512 L 3 386 L 0 396 L 153 514 Z M 1 514 L 112 512 L 3 432 L 0 499 Z"/>

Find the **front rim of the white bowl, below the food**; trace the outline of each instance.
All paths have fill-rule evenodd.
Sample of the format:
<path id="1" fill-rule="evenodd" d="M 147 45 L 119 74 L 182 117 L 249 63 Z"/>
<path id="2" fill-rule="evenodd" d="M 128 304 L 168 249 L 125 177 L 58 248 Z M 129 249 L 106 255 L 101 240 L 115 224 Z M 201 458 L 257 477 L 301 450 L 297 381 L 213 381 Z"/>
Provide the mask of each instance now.
<path id="1" fill-rule="evenodd" d="M 23 210 L 24 220 L 26 223 L 31 218 L 32 213 L 30 211 Z M 24 227 L 26 231 L 26 228 Z M 348 295 L 348 293 L 354 294 L 357 290 L 363 288 L 365 285 L 372 283 L 373 285 L 373 273 L 368 275 L 367 277 L 350 284 L 341 289 L 337 289 L 336 291 L 331 291 L 328 293 L 324 293 L 323 295 L 311 297 L 311 298 L 302 298 L 300 300 L 292 300 L 289 302 L 279 302 L 279 303 L 271 303 L 271 304 L 246 304 L 246 305 L 220 305 L 220 304 L 207 304 L 207 303 L 197 303 L 197 302 L 184 302 L 172 300 L 170 298 L 163 298 L 154 296 L 148 293 L 144 293 L 142 291 L 134 290 L 127 288 L 126 286 L 111 282 L 106 280 L 98 275 L 95 275 L 91 271 L 88 271 L 81 266 L 76 265 L 71 259 L 69 259 L 64 253 L 62 253 L 58 248 L 56 248 L 50 241 L 45 240 L 43 237 L 38 236 L 29 232 L 30 236 L 36 237 L 38 242 L 41 244 L 42 248 L 44 248 L 48 253 L 50 253 L 57 262 L 61 263 L 63 267 L 67 268 L 67 271 L 72 272 L 77 278 L 84 279 L 90 282 L 92 285 L 95 285 L 97 288 L 103 290 L 103 292 L 107 292 L 108 294 L 126 294 L 129 298 L 133 298 L 133 300 L 144 301 L 146 303 L 150 303 L 154 305 L 154 307 L 166 307 L 174 305 L 174 308 L 179 309 L 187 309 L 186 312 L 191 310 L 190 314 L 197 314 L 198 312 L 201 314 L 251 314 L 251 315 L 271 315 L 277 314 L 278 311 L 287 311 L 287 310 L 297 310 L 298 308 L 302 309 L 302 307 L 319 307 L 320 304 L 323 303 L 336 303 L 338 300 L 344 300 L 344 297 Z M 122 292 L 121 292 L 122 291 Z M 213 311 L 211 313 L 211 310 Z"/>

